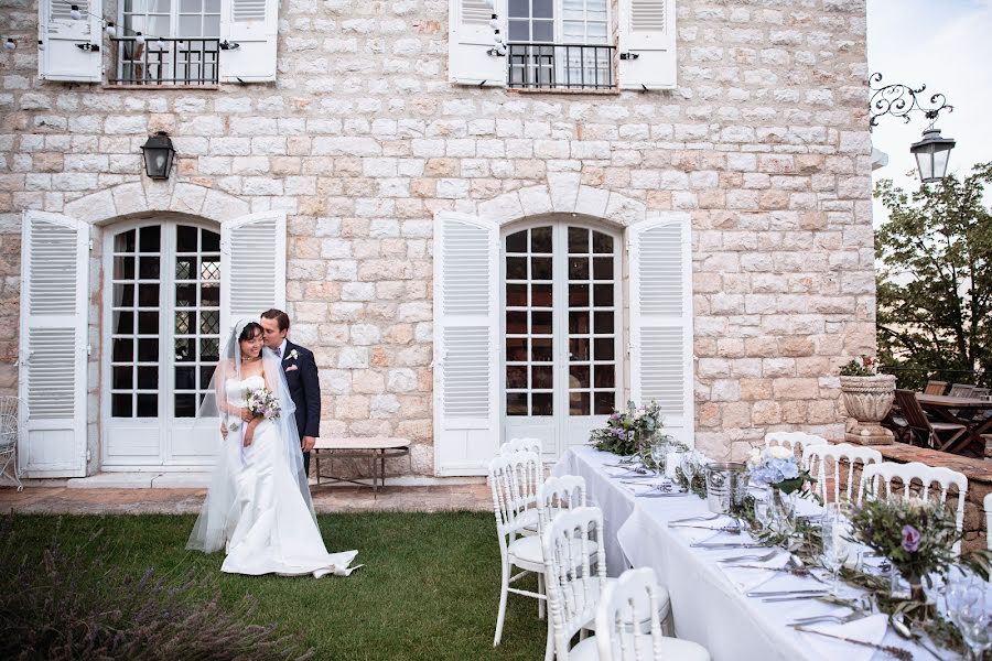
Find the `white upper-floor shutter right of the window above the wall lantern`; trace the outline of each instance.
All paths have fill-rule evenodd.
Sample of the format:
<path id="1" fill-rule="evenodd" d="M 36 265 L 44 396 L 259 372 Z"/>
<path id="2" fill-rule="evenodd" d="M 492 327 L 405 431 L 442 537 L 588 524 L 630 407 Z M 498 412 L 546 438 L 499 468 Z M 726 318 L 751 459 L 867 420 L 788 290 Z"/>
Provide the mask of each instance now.
<path id="1" fill-rule="evenodd" d="M 220 80 L 274 80 L 278 32 L 279 0 L 222 0 Z M 238 46 L 225 50 L 224 42 Z"/>

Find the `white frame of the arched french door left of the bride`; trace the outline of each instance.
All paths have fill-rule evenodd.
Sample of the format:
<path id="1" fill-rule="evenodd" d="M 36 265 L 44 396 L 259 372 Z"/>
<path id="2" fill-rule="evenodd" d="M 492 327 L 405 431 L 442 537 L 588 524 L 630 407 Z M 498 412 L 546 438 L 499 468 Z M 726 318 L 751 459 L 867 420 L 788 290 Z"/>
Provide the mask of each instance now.
<path id="1" fill-rule="evenodd" d="M 161 347 L 174 346 L 174 328 L 172 326 L 173 323 L 173 313 L 175 311 L 175 270 L 174 262 L 166 260 L 166 257 L 175 256 L 175 231 L 168 230 L 168 227 L 174 228 L 177 225 L 186 225 L 191 227 L 197 227 L 201 229 L 208 229 L 211 231 L 220 234 L 220 225 L 218 223 L 214 223 L 204 218 L 174 218 L 169 216 L 150 216 L 147 218 L 141 218 L 137 220 L 126 220 L 121 223 L 115 223 L 112 225 L 108 225 L 104 228 L 104 246 L 103 246 L 103 260 L 101 260 L 101 282 L 100 285 L 103 288 L 101 295 L 101 330 L 100 330 L 100 470 L 104 472 L 200 472 L 203 470 L 206 466 L 213 464 L 213 458 L 205 458 L 202 463 L 182 463 L 182 462 L 172 462 L 170 457 L 171 448 L 171 440 L 173 434 L 176 433 L 185 433 L 188 434 L 192 431 L 193 420 L 194 419 L 177 419 L 173 420 L 171 415 L 168 415 L 168 411 L 170 410 L 170 404 L 172 402 L 172 395 L 175 390 L 175 375 L 173 370 L 173 364 L 171 360 L 166 360 L 166 356 L 163 355 L 160 350 L 159 354 L 159 415 L 153 419 L 141 419 L 141 418 L 132 418 L 130 420 L 130 424 L 136 427 L 136 431 L 144 431 L 150 434 L 151 429 L 155 429 L 158 431 L 158 444 L 159 444 L 159 454 L 155 463 L 151 464 L 142 464 L 140 462 L 133 463 L 114 463 L 114 459 L 108 457 L 108 448 L 109 448 L 109 435 L 111 432 L 111 426 L 114 425 L 114 418 L 111 416 L 111 383 L 112 383 L 112 369 L 110 368 L 110 364 L 112 362 L 112 323 L 114 323 L 114 305 L 112 305 L 112 296 L 114 296 L 114 286 L 111 284 L 112 273 L 114 273 L 114 239 L 117 235 L 129 231 L 131 229 L 140 229 L 142 227 L 150 226 L 160 226 L 163 231 L 161 235 L 161 245 L 160 245 L 160 270 L 159 270 L 159 342 Z M 134 266 L 136 270 L 138 264 Z M 222 281 L 220 288 L 224 290 L 224 273 L 222 271 Z M 134 296 L 137 297 L 138 292 L 134 292 Z M 169 314 L 165 314 L 165 313 Z M 222 335 L 223 335 L 222 328 Z M 222 337 L 222 342 L 223 342 Z M 164 367 L 163 367 L 164 366 Z M 198 373 L 196 376 L 198 379 Z M 188 424 L 181 422 L 188 420 Z M 123 423 L 122 423 L 123 424 Z M 137 458 L 137 457 L 136 457 Z M 108 463 L 109 462 L 109 463 Z"/>

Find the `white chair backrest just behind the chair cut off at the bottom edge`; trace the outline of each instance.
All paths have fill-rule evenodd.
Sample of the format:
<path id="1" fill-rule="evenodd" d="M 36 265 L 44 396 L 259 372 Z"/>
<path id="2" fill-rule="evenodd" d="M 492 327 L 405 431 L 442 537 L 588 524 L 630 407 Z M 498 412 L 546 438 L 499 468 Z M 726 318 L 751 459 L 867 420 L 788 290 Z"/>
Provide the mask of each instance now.
<path id="1" fill-rule="evenodd" d="M 541 535 L 548 615 L 558 661 L 568 660 L 572 636 L 595 616 L 606 582 L 606 552 L 594 541 L 596 534 L 602 537 L 602 530 L 600 508 L 578 507 L 560 512 Z"/>

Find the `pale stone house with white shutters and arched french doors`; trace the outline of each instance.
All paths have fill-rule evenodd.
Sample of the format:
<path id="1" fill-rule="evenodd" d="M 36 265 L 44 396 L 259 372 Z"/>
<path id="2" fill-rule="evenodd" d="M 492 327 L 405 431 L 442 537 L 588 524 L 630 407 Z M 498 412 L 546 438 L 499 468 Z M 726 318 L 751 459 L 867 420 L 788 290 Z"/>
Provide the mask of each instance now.
<path id="1" fill-rule="evenodd" d="M 322 435 L 409 437 L 416 476 L 552 458 L 632 399 L 713 456 L 842 435 L 864 0 L 77 1 L 0 0 L 28 476 L 202 469 L 218 338 L 272 304 Z"/>

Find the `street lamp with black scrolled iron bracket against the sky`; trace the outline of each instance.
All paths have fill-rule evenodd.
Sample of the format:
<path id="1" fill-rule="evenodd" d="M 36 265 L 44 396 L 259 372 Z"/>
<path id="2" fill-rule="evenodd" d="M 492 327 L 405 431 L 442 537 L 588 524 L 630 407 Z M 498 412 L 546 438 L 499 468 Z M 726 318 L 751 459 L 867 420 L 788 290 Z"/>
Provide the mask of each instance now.
<path id="1" fill-rule="evenodd" d="M 881 80 L 882 74 L 872 74 L 872 83 Z M 944 180 L 947 174 L 947 161 L 956 144 L 953 138 L 944 138 L 940 129 L 935 128 L 934 124 L 937 123 L 937 117 L 941 110 L 953 112 L 955 107 L 947 105 L 947 98 L 942 94 L 935 94 L 930 97 L 932 107 L 923 108 L 916 95 L 921 94 L 926 88 L 927 86 L 923 85 L 919 89 L 913 89 L 908 85 L 901 84 L 871 87 L 870 126 L 878 126 L 878 118 L 884 115 L 902 117 L 904 122 L 909 123 L 910 112 L 923 112 L 930 123 L 924 129 L 923 139 L 909 148 L 909 153 L 916 158 L 919 181 L 930 184 Z"/>

